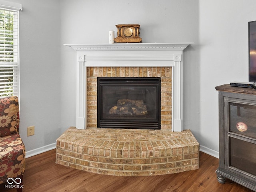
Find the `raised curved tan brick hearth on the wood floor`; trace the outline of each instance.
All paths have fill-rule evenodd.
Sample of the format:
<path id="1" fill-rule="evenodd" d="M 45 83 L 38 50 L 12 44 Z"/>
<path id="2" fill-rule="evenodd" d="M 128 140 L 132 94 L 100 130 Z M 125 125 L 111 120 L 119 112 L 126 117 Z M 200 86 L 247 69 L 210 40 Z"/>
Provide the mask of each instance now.
<path id="1" fill-rule="evenodd" d="M 56 147 L 56 163 L 99 174 L 150 176 L 199 168 L 199 144 L 190 130 L 70 127 Z"/>

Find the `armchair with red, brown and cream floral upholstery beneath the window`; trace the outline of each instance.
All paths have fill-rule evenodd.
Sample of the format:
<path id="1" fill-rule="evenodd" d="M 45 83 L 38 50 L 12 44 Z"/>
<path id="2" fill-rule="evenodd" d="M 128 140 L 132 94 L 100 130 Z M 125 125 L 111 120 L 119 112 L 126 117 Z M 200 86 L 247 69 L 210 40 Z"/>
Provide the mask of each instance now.
<path id="1" fill-rule="evenodd" d="M 18 97 L 0 98 L 0 184 L 19 185 L 17 191 L 22 191 L 25 146 L 19 135 L 19 114 Z"/>

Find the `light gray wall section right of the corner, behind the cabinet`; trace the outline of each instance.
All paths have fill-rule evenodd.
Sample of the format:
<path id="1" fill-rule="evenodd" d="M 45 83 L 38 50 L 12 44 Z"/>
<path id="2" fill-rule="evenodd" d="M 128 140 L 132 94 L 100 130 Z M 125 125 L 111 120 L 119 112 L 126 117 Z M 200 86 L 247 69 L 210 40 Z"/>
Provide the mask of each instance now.
<path id="1" fill-rule="evenodd" d="M 214 87 L 248 82 L 248 22 L 256 20 L 255 7 L 254 0 L 200 0 L 200 123 L 192 132 L 201 146 L 211 150 L 218 151 L 218 92 Z"/>

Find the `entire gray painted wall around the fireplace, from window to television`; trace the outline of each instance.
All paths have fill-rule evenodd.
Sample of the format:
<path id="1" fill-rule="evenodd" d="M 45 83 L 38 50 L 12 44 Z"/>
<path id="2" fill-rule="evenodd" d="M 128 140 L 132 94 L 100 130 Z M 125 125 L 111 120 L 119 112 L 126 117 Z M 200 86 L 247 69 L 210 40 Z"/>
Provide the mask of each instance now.
<path id="1" fill-rule="evenodd" d="M 247 0 L 11 0 L 20 13 L 20 132 L 27 150 L 76 122 L 76 53 L 63 44 L 108 43 L 116 24 L 140 24 L 148 42 L 194 42 L 184 51 L 184 129 L 218 156 L 220 84 L 248 81 Z M 34 136 L 26 127 L 35 125 Z"/>

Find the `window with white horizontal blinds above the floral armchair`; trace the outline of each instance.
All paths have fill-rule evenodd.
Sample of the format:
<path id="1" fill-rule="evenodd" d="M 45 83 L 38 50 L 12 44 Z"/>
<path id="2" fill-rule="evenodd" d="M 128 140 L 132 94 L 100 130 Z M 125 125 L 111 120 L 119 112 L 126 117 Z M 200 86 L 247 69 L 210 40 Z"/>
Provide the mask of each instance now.
<path id="1" fill-rule="evenodd" d="M 0 4 L 0 97 L 19 94 L 19 12 L 6 7 Z"/>

